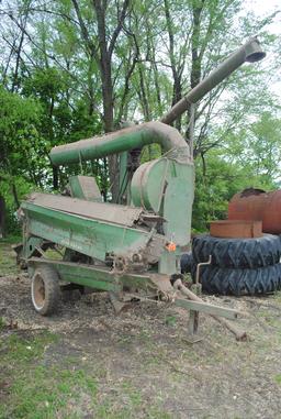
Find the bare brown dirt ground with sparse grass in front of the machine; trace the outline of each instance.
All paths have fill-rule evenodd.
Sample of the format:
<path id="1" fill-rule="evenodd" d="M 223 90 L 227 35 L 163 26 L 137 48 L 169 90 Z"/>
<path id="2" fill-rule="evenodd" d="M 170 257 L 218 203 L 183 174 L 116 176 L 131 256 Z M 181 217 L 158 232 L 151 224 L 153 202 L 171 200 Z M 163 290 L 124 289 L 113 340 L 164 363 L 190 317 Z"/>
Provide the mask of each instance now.
<path id="1" fill-rule="evenodd" d="M 85 393 L 46 418 L 281 418 L 281 294 L 205 296 L 217 305 L 240 309 L 244 316 L 237 323 L 251 339 L 236 342 L 201 315 L 202 340 L 191 344 L 188 313 L 164 304 L 134 302 L 116 316 L 102 293 L 61 300 L 56 316 L 36 315 L 27 276 L 13 267 L 10 246 L 2 244 L 1 249 L 8 261 L 0 268 L 2 406 L 19 403 L 19 397 L 9 387 L 16 364 L 4 365 L 1 348 L 11 335 L 50 331 L 58 339 L 44 346 L 36 363 L 85 371 L 94 379 L 97 392 L 94 406 Z M 5 377 L 2 388 L 1 375 Z M 3 418 L 24 417 L 4 411 Z"/>

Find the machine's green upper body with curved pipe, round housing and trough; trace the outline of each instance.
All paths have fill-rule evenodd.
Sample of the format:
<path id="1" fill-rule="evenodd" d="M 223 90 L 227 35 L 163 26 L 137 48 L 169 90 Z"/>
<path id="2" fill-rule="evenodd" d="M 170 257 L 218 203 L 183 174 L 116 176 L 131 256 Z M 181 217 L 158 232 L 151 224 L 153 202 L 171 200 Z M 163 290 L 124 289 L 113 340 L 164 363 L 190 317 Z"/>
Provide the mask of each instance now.
<path id="1" fill-rule="evenodd" d="M 126 180 L 125 151 L 150 143 L 161 144 L 166 154 L 149 165 L 140 165 L 133 176 L 132 203 L 144 211 L 133 224 L 125 222 L 131 207 L 119 206 L 123 225 L 119 224 L 119 217 L 114 218 L 114 222 L 109 217 L 99 219 L 103 212 L 100 207 L 92 207 L 92 213 L 89 212 L 90 208 L 88 212 L 82 211 L 82 200 L 87 199 L 83 185 L 89 184 L 89 179 L 75 176 L 70 178 L 69 186 L 71 196 L 79 198 L 80 212 L 71 208 L 76 207 L 78 200 L 67 205 L 67 198 L 57 198 L 56 205 L 56 198 L 52 198 L 53 203 L 48 205 L 50 197 L 44 195 L 35 197 L 35 200 L 30 199 L 22 205 L 29 235 L 48 240 L 101 262 L 105 262 L 111 255 L 113 260 L 124 258 L 126 266 L 134 269 L 136 264 L 132 261 L 137 258 L 142 260 L 147 272 L 179 274 L 181 246 L 188 245 L 190 241 L 194 168 L 189 146 L 176 129 L 160 122 L 131 126 L 103 139 L 55 147 L 50 152 L 50 159 L 53 164 L 68 164 L 123 152 L 121 178 Z M 145 184 L 139 183 L 143 167 L 146 167 Z M 123 185 L 120 186 L 122 195 Z M 147 195 L 145 201 L 142 201 L 143 194 Z M 100 203 L 102 205 L 104 212 L 108 212 L 108 205 Z M 113 212 L 119 212 L 116 206 L 111 208 Z M 97 219 L 95 209 L 99 210 Z M 161 220 L 161 225 L 159 221 L 155 224 L 144 220 L 149 217 Z M 168 243 L 173 243 L 176 250 L 168 251 Z"/>

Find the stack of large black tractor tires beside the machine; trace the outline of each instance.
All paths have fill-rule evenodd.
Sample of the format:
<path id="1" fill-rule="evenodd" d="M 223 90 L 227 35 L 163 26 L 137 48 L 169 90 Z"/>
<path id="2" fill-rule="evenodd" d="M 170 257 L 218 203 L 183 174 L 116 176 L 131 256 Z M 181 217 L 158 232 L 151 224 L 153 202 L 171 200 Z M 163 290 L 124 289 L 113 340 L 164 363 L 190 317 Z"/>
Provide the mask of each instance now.
<path id="1" fill-rule="evenodd" d="M 182 256 L 182 273 L 195 279 L 200 267 L 202 289 L 210 294 L 261 295 L 281 288 L 281 240 L 263 234 L 255 239 L 218 239 L 200 235 L 193 239 L 192 254 Z"/>

